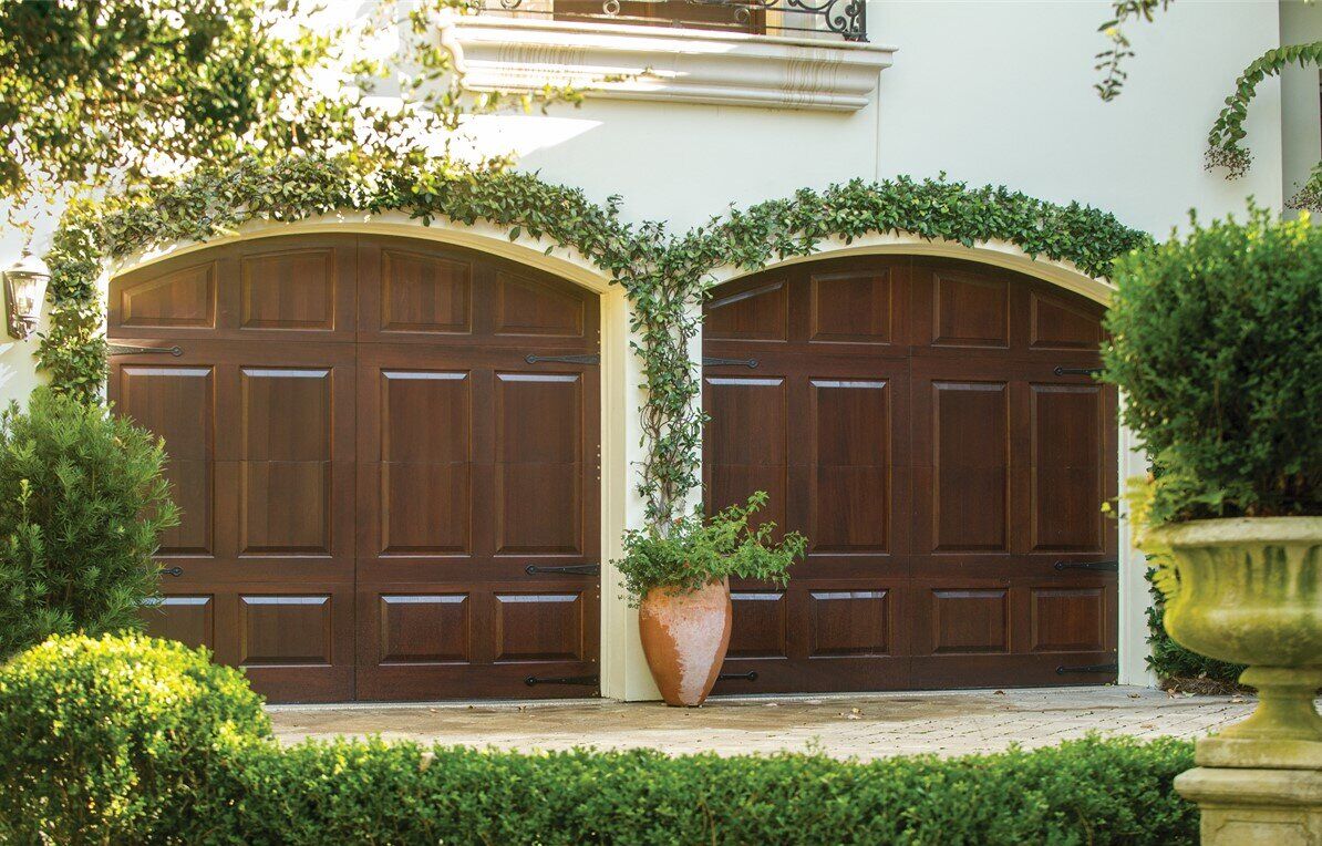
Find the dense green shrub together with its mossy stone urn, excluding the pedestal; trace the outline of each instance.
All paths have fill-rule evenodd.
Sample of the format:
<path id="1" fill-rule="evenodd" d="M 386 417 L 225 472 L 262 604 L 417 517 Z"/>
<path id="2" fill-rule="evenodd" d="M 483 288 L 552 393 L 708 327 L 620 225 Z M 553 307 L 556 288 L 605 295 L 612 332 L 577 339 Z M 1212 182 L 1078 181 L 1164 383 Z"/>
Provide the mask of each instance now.
<path id="1" fill-rule="evenodd" d="M 1112 279 L 1104 378 L 1159 468 L 1129 498 L 1166 629 L 1260 694 L 1198 763 L 1322 767 L 1322 230 L 1192 218 Z"/>

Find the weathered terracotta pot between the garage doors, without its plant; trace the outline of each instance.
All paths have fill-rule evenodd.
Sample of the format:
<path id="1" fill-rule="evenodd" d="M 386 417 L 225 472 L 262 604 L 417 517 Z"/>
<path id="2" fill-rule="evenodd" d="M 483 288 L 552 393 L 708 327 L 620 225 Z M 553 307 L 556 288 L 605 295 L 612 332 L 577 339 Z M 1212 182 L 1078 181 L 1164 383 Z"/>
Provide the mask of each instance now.
<path id="1" fill-rule="evenodd" d="M 703 703 L 730 646 L 730 582 L 709 582 L 691 594 L 656 587 L 639 607 L 639 633 L 652 678 L 666 705 Z"/>

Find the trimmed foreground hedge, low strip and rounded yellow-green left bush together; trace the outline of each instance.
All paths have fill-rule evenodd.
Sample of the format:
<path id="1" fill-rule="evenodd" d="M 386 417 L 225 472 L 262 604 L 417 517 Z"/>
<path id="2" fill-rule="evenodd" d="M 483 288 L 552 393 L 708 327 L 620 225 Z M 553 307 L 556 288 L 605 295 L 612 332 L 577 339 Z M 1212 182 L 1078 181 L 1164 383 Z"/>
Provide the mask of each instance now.
<path id="1" fill-rule="evenodd" d="M 1196 839 L 1192 747 L 1089 738 L 873 763 L 282 747 L 239 673 L 136 636 L 0 666 L 0 842 L 982 843 Z"/>

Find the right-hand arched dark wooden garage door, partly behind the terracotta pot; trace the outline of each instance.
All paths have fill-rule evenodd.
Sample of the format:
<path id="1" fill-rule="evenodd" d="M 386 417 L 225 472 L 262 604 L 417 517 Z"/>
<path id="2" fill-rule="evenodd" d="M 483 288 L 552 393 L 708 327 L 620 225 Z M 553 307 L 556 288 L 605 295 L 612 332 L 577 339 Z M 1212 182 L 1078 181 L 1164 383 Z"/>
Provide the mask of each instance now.
<path id="1" fill-rule="evenodd" d="M 802 264 L 706 307 L 705 482 L 809 538 L 734 586 L 719 693 L 1097 683 L 1116 661 L 1100 305 L 985 266 Z"/>

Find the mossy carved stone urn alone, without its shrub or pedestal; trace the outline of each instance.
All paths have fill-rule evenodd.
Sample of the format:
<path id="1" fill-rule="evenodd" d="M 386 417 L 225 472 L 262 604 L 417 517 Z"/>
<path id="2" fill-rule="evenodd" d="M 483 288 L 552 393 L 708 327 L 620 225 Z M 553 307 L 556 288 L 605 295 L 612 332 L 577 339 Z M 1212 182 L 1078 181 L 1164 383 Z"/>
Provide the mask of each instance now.
<path id="1" fill-rule="evenodd" d="M 1322 517 L 1198 519 L 1149 534 L 1170 547 L 1166 631 L 1204 656 L 1247 664 L 1249 718 L 1199 742 L 1203 767 L 1322 767 Z"/>

